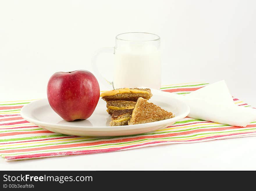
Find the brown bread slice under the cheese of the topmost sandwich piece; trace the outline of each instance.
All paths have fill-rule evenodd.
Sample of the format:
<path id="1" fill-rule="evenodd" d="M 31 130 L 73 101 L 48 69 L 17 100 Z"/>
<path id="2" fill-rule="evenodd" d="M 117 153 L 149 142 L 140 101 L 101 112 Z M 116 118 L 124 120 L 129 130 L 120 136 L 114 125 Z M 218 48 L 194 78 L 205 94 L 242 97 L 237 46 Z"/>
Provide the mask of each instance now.
<path id="1" fill-rule="evenodd" d="M 152 93 L 149 88 L 146 88 L 146 89 L 130 88 L 130 89 L 147 91 L 149 92 L 149 94 L 148 93 L 122 93 L 122 94 L 115 94 L 111 96 L 104 96 L 102 97 L 102 99 L 104 99 L 105 101 L 111 101 L 111 100 L 137 101 L 139 97 L 143 97 L 144 99 L 150 99 L 152 97 Z"/>

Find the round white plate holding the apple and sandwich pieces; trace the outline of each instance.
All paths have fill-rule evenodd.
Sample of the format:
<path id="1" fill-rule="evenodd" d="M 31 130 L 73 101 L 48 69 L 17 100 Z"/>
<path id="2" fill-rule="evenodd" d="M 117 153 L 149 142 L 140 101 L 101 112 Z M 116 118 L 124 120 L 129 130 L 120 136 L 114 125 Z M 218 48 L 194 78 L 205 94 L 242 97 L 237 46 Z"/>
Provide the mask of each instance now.
<path id="1" fill-rule="evenodd" d="M 93 115 L 86 120 L 76 120 L 73 122 L 63 120 L 51 109 L 47 99 L 33 101 L 25 105 L 22 107 L 20 114 L 27 121 L 55 133 L 94 137 L 152 132 L 168 127 L 189 114 L 189 106 L 184 102 L 168 96 L 166 92 L 161 92 L 160 90 L 151 91 L 153 96 L 149 102 L 174 113 L 176 117 L 145 124 L 109 126 L 111 116 L 106 112 L 106 102 L 102 99 L 99 99 Z"/>

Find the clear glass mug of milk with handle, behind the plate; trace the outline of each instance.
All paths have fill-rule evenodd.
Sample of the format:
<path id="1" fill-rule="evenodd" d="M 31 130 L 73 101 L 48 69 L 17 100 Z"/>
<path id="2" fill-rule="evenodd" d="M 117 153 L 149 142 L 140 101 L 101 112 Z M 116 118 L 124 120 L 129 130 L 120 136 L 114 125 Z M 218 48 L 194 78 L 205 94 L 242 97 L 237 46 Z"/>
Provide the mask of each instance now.
<path id="1" fill-rule="evenodd" d="M 114 53 L 113 80 L 99 72 L 97 57 L 101 53 Z M 147 87 L 160 89 L 161 56 L 160 37 L 151 33 L 122 33 L 115 38 L 115 47 L 99 49 L 93 56 L 92 66 L 100 81 L 113 89 Z"/>

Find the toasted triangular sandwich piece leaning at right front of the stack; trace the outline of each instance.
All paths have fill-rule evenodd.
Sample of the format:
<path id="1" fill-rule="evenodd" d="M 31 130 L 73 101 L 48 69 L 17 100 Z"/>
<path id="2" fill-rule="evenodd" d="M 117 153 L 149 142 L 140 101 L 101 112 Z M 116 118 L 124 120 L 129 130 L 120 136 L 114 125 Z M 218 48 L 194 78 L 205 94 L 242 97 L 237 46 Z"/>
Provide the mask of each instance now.
<path id="1" fill-rule="evenodd" d="M 173 113 L 163 110 L 154 103 L 148 103 L 146 99 L 139 97 L 128 125 L 161 121 L 173 118 L 174 116 Z"/>

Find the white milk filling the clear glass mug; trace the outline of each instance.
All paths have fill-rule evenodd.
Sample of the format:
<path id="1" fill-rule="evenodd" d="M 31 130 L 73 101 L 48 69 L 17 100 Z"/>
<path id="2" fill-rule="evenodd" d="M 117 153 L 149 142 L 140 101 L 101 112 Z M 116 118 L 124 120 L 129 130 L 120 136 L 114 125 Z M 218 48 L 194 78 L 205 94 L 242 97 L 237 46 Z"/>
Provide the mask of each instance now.
<path id="1" fill-rule="evenodd" d="M 129 46 L 115 49 L 113 86 L 160 89 L 161 57 L 154 46 Z"/>

